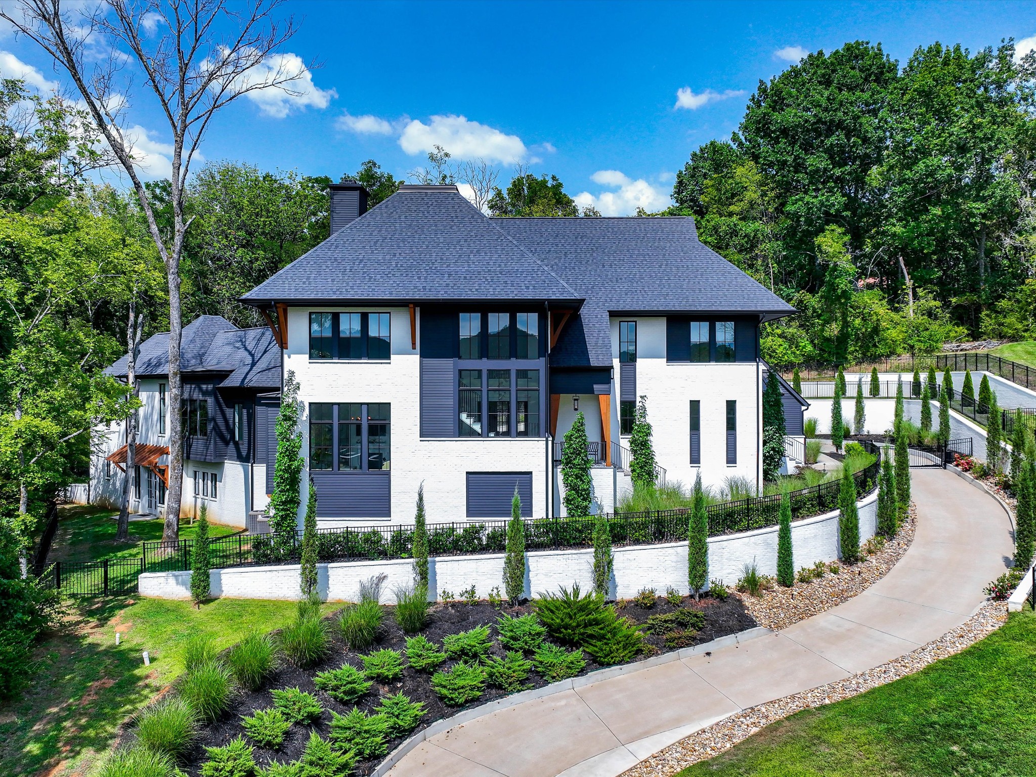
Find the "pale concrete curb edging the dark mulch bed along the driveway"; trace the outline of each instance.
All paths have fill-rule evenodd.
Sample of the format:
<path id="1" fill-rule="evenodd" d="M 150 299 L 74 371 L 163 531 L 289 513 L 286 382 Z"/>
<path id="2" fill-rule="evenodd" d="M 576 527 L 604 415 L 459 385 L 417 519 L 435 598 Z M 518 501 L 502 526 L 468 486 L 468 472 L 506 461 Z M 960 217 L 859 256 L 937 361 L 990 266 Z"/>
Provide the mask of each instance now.
<path id="1" fill-rule="evenodd" d="M 770 629 L 757 626 L 754 629 L 746 629 L 745 631 L 740 631 L 737 634 L 727 634 L 726 636 L 719 637 L 711 642 L 703 642 L 702 644 L 696 644 L 692 648 L 682 648 L 679 651 L 664 653 L 661 656 L 653 656 L 652 658 L 644 659 L 643 661 L 637 661 L 632 664 L 623 664 L 622 666 L 609 666 L 604 669 L 597 669 L 596 671 L 592 671 L 578 678 L 562 680 L 557 683 L 545 685 L 543 688 L 534 688 L 528 691 L 514 693 L 510 696 L 505 696 L 503 698 L 490 701 L 486 704 L 472 707 L 470 710 L 464 710 L 451 718 L 436 720 L 435 722 L 429 724 L 427 728 L 418 731 L 408 740 L 401 743 L 399 747 L 385 756 L 385 759 L 378 765 L 377 769 L 371 772 L 371 777 L 383 777 L 383 775 L 396 766 L 403 758 L 403 756 L 413 750 L 422 742 L 425 742 L 437 733 L 448 731 L 454 726 L 467 723 L 469 720 L 481 718 L 499 710 L 506 710 L 509 707 L 515 707 L 516 704 L 520 704 L 524 701 L 535 701 L 536 699 L 553 696 L 556 693 L 564 693 L 565 691 L 582 688 L 584 686 L 592 685 L 593 683 L 599 683 L 603 680 L 618 678 L 623 674 L 640 671 L 641 669 L 650 669 L 653 666 L 668 664 L 672 661 L 680 661 L 685 658 L 690 658 L 691 656 L 698 656 L 702 653 L 718 651 L 721 648 L 726 648 L 727 645 L 740 644 L 741 642 L 747 642 L 750 639 L 764 637 L 773 633 L 774 632 Z"/>

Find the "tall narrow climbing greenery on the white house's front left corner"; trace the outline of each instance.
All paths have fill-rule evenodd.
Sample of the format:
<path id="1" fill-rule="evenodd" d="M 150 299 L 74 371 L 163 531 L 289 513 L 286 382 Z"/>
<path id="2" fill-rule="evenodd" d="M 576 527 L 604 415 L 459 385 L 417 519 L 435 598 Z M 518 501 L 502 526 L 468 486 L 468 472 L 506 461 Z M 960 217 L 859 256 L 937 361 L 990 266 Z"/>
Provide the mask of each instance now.
<path id="1" fill-rule="evenodd" d="M 284 381 L 276 434 L 277 459 L 274 462 L 274 493 L 269 497 L 269 526 L 274 531 L 274 546 L 285 557 L 295 544 L 305 464 L 299 455 L 303 435 L 298 431 L 298 381 L 293 370 L 288 370 Z"/>

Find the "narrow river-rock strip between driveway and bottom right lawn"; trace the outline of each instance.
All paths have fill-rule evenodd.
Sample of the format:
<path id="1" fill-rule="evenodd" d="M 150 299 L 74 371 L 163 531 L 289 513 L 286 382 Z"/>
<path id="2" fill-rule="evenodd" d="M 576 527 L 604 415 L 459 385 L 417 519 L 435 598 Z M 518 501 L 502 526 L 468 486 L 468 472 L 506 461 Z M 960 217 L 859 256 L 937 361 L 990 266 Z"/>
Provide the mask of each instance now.
<path id="1" fill-rule="evenodd" d="M 877 686 L 913 674 L 940 659 L 960 653 L 1007 621 L 1006 602 L 986 602 L 955 629 L 905 656 L 835 683 L 751 707 L 660 750 L 621 777 L 668 777 L 699 760 L 712 758 L 767 725 L 813 707 L 852 698 Z"/>

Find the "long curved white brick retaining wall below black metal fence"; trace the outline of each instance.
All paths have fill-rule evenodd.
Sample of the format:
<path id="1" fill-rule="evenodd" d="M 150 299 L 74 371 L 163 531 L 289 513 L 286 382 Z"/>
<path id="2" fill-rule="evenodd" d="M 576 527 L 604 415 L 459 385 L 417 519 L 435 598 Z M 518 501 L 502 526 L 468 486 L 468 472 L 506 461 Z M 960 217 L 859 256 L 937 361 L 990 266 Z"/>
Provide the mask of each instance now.
<path id="1" fill-rule="evenodd" d="M 877 520 L 877 494 L 872 492 L 857 502 L 861 542 L 873 537 Z M 796 568 L 814 562 L 833 562 L 838 552 L 838 511 L 804 518 L 792 524 Z M 614 571 L 611 597 L 629 599 L 640 588 L 654 587 L 659 594 L 673 587 L 688 594 L 687 543 L 638 545 L 613 549 Z M 578 582 L 583 591 L 593 587 L 593 548 L 533 551 L 526 554 L 525 596 L 556 591 Z M 732 585 L 746 564 L 755 563 L 762 574 L 777 573 L 777 526 L 713 537 L 709 540 L 709 577 Z M 393 588 L 413 579 L 409 558 L 376 562 L 341 562 L 317 565 L 317 585 L 322 599 L 355 601 L 359 582 L 372 575 L 387 576 L 382 602 L 396 601 Z M 503 554 L 455 555 L 429 559 L 430 597 L 443 589 L 458 595 L 474 585 L 480 598 L 494 586 L 502 588 Z M 211 570 L 214 597 L 239 599 L 299 599 L 298 565 L 232 567 Z M 190 572 L 149 572 L 140 576 L 140 594 L 162 599 L 188 599 Z"/>

